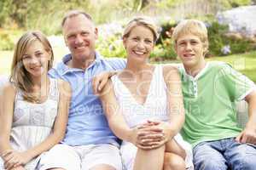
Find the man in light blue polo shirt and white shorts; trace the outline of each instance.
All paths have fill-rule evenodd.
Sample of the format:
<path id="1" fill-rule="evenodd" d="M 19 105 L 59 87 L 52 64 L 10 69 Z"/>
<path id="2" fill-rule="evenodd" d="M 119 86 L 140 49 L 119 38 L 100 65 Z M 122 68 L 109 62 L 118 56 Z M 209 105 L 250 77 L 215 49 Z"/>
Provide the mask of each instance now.
<path id="1" fill-rule="evenodd" d="M 92 90 L 92 77 L 125 67 L 122 59 L 104 59 L 96 52 L 98 30 L 89 14 L 73 10 L 62 20 L 67 54 L 49 75 L 72 86 L 66 137 L 49 150 L 42 169 L 120 170 L 119 141 L 108 127 L 102 105 Z"/>

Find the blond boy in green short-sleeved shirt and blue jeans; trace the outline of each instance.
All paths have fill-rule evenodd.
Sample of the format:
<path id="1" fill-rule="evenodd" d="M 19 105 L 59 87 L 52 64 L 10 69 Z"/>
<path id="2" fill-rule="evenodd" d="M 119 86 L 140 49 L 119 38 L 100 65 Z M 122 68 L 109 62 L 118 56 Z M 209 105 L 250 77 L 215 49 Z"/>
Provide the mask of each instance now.
<path id="1" fill-rule="evenodd" d="M 222 62 L 207 62 L 207 28 L 183 20 L 173 31 L 186 120 L 183 138 L 193 146 L 195 170 L 256 168 L 256 90 L 247 77 Z M 236 102 L 248 103 L 249 120 L 237 127 Z"/>

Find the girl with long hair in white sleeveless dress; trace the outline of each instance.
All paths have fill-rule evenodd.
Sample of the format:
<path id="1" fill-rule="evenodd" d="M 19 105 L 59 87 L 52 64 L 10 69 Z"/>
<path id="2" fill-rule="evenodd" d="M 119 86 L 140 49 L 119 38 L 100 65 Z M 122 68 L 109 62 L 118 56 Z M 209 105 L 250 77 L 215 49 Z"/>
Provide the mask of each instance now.
<path id="1" fill-rule="evenodd" d="M 0 169 L 39 169 L 45 151 L 65 135 L 71 88 L 47 76 L 53 59 L 40 31 L 26 32 L 16 44 L 9 83 L 3 87 Z"/>

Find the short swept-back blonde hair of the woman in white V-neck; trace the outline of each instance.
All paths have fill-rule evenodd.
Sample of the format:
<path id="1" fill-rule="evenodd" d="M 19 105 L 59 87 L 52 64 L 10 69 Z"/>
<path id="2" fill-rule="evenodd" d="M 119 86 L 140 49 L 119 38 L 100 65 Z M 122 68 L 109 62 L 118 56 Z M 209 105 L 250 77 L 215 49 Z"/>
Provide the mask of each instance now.
<path id="1" fill-rule="evenodd" d="M 159 37 L 158 28 L 152 20 L 150 20 L 148 17 L 145 17 L 145 16 L 136 17 L 125 26 L 123 39 L 130 36 L 131 30 L 135 26 L 145 26 L 150 31 L 152 31 L 154 36 L 154 42 L 156 42 L 157 38 Z"/>

